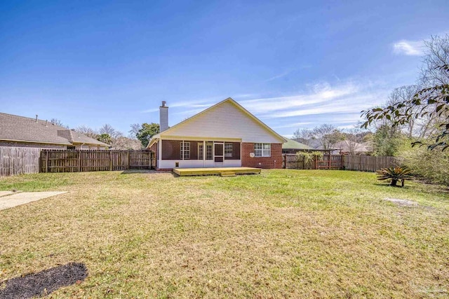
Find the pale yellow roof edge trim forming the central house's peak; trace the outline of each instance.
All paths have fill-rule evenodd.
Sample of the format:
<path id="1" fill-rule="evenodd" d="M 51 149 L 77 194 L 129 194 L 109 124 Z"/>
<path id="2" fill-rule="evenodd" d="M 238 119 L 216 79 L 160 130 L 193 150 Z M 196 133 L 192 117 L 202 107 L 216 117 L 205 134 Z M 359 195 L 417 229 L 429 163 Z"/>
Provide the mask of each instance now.
<path id="1" fill-rule="evenodd" d="M 248 118 L 252 119 L 258 126 L 260 126 L 265 132 L 268 132 L 269 134 L 271 134 L 273 137 L 275 137 L 275 139 L 278 139 L 280 141 L 280 143 L 286 142 L 286 139 L 284 137 L 282 137 L 281 135 L 279 135 L 278 133 L 274 132 L 274 130 L 272 130 L 272 128 L 268 127 L 267 125 L 265 125 L 260 119 L 256 118 L 255 116 L 253 116 L 252 113 L 250 113 L 248 110 L 246 110 L 245 108 L 243 108 L 243 106 L 241 106 L 239 103 L 237 103 L 236 101 L 234 101 L 234 99 L 228 97 L 227 99 L 224 99 L 221 102 L 218 102 L 217 104 L 210 106 L 208 109 L 205 109 L 197 114 L 195 114 L 194 116 L 187 118 L 186 120 L 183 120 L 181 123 L 178 123 L 177 125 L 174 125 L 173 127 L 169 127 L 167 130 L 156 134 L 152 137 L 152 140 L 149 142 L 148 146 L 152 146 L 152 144 L 154 144 L 154 142 L 156 142 L 158 139 L 160 139 L 161 137 L 164 136 L 170 136 L 170 134 L 173 134 L 173 132 L 175 132 L 176 130 L 179 130 L 180 127 L 183 127 L 185 125 L 189 125 L 192 124 L 192 122 L 194 122 L 195 120 L 199 119 L 201 116 L 206 115 L 207 113 L 210 113 L 211 111 L 213 111 L 213 109 L 219 107 L 219 106 L 224 106 L 225 104 L 232 104 L 232 106 L 236 107 L 236 109 L 238 109 L 239 111 L 241 111 L 241 113 L 243 113 L 245 116 L 247 116 Z"/>

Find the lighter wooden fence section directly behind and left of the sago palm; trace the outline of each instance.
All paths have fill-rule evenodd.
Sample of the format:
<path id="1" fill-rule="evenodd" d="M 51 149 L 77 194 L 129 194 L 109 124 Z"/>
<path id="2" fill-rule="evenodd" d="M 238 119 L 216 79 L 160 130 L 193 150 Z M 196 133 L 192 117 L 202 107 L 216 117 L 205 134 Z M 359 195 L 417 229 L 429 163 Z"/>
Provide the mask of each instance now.
<path id="1" fill-rule="evenodd" d="M 344 169 L 359 172 L 375 172 L 381 168 L 395 167 L 398 160 L 395 157 L 377 157 L 375 155 L 345 155 Z"/>

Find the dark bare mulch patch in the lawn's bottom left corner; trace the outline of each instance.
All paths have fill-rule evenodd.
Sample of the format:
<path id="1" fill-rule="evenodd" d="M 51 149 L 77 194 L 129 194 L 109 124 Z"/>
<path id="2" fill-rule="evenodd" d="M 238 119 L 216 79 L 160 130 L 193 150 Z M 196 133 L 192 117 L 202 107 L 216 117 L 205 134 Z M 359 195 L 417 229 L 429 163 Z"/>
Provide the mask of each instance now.
<path id="1" fill-rule="evenodd" d="M 4 281 L 0 284 L 0 298 L 32 298 L 48 295 L 62 286 L 83 281 L 86 277 L 86 265 L 83 263 L 68 263 Z"/>

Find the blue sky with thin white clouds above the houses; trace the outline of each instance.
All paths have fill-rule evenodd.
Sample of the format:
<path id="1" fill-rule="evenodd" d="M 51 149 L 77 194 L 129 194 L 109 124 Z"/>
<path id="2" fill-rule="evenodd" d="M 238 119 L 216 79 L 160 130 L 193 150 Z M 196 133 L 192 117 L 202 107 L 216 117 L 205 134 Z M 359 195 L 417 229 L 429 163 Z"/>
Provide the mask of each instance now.
<path id="1" fill-rule="evenodd" d="M 0 112 L 69 127 L 169 123 L 232 97 L 276 132 L 415 83 L 445 1 L 0 1 Z"/>

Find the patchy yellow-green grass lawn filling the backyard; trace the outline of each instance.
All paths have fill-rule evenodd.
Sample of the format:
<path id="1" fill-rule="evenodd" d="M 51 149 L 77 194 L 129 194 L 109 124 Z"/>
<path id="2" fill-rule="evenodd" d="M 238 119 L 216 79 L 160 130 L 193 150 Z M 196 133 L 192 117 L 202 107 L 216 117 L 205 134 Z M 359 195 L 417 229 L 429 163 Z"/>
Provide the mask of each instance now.
<path id="1" fill-rule="evenodd" d="M 374 174 L 85 172 L 0 179 L 68 190 L 0 211 L 0 281 L 69 262 L 54 298 L 448 298 L 449 192 Z M 400 207 L 385 197 L 413 200 Z"/>

